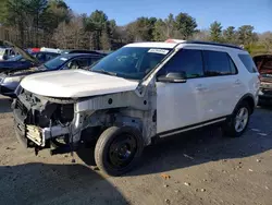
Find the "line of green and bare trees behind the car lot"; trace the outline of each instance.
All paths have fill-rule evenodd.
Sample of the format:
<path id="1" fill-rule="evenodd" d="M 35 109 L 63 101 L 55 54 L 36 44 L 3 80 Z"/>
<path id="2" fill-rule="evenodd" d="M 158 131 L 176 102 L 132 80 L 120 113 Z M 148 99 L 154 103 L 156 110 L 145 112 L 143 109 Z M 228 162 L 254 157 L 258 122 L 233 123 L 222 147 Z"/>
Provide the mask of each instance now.
<path id="1" fill-rule="evenodd" d="M 272 52 L 272 33 L 257 34 L 251 25 L 222 29 L 215 21 L 200 31 L 193 16 L 181 12 L 164 20 L 141 16 L 119 26 L 103 11 L 78 15 L 64 0 L 0 0 L 0 39 L 22 47 L 111 50 L 133 41 L 168 38 L 243 45 L 251 55 Z"/>

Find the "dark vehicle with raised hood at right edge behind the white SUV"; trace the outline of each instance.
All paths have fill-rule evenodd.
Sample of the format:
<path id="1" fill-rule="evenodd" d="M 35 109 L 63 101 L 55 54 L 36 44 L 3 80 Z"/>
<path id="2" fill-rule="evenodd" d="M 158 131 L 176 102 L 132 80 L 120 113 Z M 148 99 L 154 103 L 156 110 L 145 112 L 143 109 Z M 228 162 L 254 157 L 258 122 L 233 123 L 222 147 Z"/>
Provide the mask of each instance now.
<path id="1" fill-rule="evenodd" d="M 272 55 L 254 57 L 260 73 L 259 106 L 272 105 Z"/>

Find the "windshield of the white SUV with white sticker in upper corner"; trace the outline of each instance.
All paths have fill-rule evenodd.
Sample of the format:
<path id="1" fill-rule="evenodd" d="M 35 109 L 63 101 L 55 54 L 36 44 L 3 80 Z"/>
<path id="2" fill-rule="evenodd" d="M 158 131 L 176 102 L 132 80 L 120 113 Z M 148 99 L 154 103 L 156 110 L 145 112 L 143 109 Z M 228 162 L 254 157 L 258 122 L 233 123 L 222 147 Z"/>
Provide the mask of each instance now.
<path id="1" fill-rule="evenodd" d="M 91 67 L 94 72 L 111 73 L 132 80 L 143 80 L 171 49 L 123 47 Z"/>

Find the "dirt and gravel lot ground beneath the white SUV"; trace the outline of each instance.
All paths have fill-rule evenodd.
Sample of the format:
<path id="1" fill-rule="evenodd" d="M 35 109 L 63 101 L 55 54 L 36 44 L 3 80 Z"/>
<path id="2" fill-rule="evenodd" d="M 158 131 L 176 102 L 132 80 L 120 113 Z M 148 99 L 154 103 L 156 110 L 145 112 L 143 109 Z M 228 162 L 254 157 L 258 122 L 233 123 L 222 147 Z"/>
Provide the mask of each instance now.
<path id="1" fill-rule="evenodd" d="M 180 135 L 146 148 L 136 170 L 109 178 L 90 166 L 92 148 L 72 164 L 70 155 L 21 147 L 9 107 L 0 97 L 0 204 L 272 204 L 271 108 L 257 109 L 240 138 L 214 128 Z"/>

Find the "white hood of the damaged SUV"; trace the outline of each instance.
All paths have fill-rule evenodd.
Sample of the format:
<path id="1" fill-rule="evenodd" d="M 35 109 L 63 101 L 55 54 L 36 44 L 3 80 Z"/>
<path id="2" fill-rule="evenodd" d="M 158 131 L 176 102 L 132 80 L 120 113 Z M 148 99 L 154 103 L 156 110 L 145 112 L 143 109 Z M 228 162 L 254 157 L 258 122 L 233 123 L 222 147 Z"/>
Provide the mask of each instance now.
<path id="1" fill-rule="evenodd" d="M 28 92 L 49 97 L 87 97 L 136 89 L 138 83 L 84 70 L 32 74 L 21 82 Z"/>

